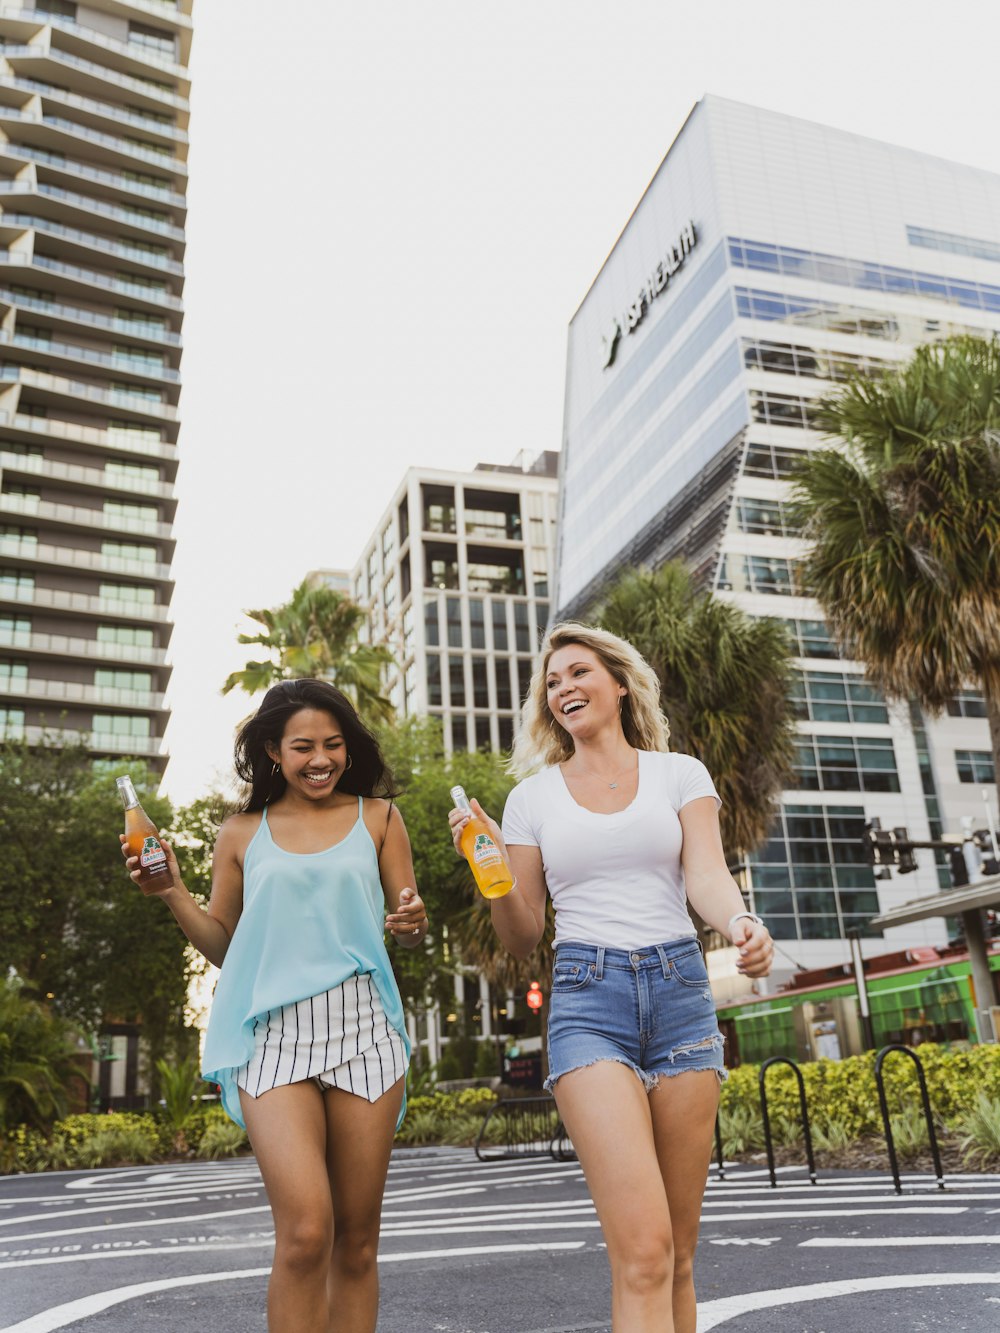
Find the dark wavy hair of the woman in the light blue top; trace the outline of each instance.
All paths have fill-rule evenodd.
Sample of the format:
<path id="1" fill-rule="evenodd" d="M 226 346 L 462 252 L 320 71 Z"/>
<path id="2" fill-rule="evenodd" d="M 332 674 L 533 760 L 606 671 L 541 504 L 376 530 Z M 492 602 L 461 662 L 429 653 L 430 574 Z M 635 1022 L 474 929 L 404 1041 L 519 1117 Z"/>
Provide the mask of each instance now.
<path id="1" fill-rule="evenodd" d="M 341 773 L 339 792 L 389 798 L 399 794 L 377 740 L 347 694 L 325 680 L 283 680 L 264 694 L 260 708 L 243 724 L 236 737 L 236 772 L 249 788 L 240 805 L 241 813 L 263 810 L 268 802 L 284 796 L 284 774 L 272 773 L 275 764 L 267 746 L 281 744 L 288 718 L 301 708 L 321 709 L 340 724 L 351 768 Z"/>

